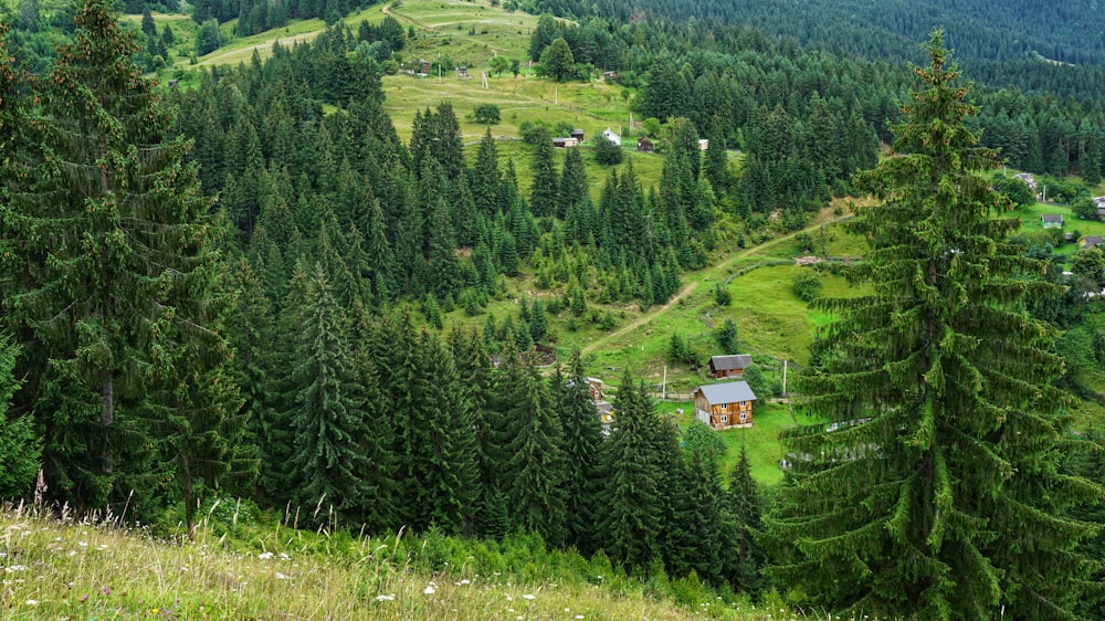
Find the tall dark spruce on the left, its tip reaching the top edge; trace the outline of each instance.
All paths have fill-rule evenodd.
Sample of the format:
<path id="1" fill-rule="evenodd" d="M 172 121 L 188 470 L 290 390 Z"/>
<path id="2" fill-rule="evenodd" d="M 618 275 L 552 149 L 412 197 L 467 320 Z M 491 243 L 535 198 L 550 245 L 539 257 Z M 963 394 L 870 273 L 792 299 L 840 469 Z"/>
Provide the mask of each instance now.
<path id="1" fill-rule="evenodd" d="M 6 149 L 21 170 L 3 179 L 18 249 L 4 317 L 34 352 L 24 403 L 45 432 L 48 484 L 103 507 L 160 483 L 136 412 L 186 372 L 175 339 L 207 328 L 187 297 L 215 231 L 189 145 L 167 138 L 169 108 L 128 60 L 134 31 L 104 0 L 83 2 L 76 27 L 36 85 L 34 146 Z"/>

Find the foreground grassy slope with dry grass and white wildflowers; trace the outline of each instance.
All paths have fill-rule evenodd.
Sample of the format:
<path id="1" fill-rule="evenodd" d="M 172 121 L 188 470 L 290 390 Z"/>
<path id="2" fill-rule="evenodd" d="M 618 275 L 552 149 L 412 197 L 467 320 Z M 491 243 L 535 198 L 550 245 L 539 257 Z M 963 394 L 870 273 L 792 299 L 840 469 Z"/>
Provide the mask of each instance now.
<path id="1" fill-rule="evenodd" d="M 757 610 L 696 579 L 630 579 L 604 557 L 547 551 L 534 536 L 499 544 L 257 528 L 209 515 L 196 543 L 165 541 L 95 519 L 2 509 L 0 618 L 817 618 L 791 614 L 776 596 Z"/>

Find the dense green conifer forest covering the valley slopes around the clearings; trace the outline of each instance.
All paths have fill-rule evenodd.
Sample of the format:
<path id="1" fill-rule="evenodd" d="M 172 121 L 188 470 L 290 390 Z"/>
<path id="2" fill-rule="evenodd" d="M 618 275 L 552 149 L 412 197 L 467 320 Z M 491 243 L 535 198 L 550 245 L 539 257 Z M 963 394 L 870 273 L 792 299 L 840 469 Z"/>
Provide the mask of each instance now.
<path id="1" fill-rule="evenodd" d="M 1021 230 L 1004 215 L 1035 197 L 992 177 L 1038 173 L 1094 215 L 1098 69 L 1007 78 L 1029 51 L 1101 51 L 1025 35 L 982 53 L 1090 9 L 978 8 L 985 28 L 922 49 L 933 29 L 903 7 L 865 36 L 925 32 L 884 51 L 776 36 L 806 9 L 512 2 L 551 11 L 527 33 L 543 80 L 617 72 L 661 147 L 645 176 L 601 139 L 556 149 L 570 128 L 552 123 L 466 136 L 450 101 L 419 106 L 408 139 L 385 81 L 419 33 L 391 14 L 190 7 L 199 55 L 235 19 L 235 36 L 326 27 L 173 87 L 144 77 L 168 27 L 119 19 L 149 17 L 141 2 L 43 17 L 24 0 L 0 32 L 0 496 L 189 536 L 230 498 L 314 529 L 522 533 L 853 614 L 1102 614 L 1099 421 L 1070 408 L 1105 399 L 1105 259 Z M 663 307 L 734 249 L 808 241 L 855 200 L 873 204 L 848 224 L 865 256 L 839 271 L 866 293 L 811 296 L 833 320 L 791 390 L 782 484 L 743 451 L 723 469 L 726 444 L 659 415 L 639 369 L 618 370 L 603 428 L 554 324 L 609 330 L 619 307 Z"/>

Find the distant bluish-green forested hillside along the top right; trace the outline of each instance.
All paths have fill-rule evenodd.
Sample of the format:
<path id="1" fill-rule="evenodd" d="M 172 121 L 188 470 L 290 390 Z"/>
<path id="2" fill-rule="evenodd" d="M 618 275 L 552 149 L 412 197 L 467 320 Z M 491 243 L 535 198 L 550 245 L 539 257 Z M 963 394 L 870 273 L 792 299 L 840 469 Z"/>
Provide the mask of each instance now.
<path id="1" fill-rule="evenodd" d="M 943 28 L 967 73 L 982 84 L 1017 86 L 1083 102 L 1105 84 L 1105 13 L 1092 0 L 536 0 L 557 15 L 600 15 L 632 22 L 651 18 L 746 24 L 803 46 L 867 60 L 918 62 L 919 43 Z"/>

